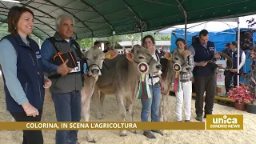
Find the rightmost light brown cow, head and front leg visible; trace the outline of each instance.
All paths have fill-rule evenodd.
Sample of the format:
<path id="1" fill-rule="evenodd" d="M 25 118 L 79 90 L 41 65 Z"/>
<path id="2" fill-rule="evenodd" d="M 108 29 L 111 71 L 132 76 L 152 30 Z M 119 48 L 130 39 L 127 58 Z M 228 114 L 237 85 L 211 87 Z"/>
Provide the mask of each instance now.
<path id="1" fill-rule="evenodd" d="M 186 52 L 189 52 L 186 50 Z M 182 71 L 186 72 L 190 70 L 191 67 L 188 65 L 185 54 L 175 49 L 172 54 L 169 52 L 164 55 L 166 59 L 161 60 L 162 64 L 162 85 L 164 86 L 164 90 L 162 91 L 162 99 L 159 106 L 159 121 L 166 122 L 166 106 L 167 106 L 167 98 L 170 93 L 170 89 L 173 84 L 173 78 L 175 76 L 175 72 L 173 69 L 174 63 L 178 63 L 182 66 Z"/>

